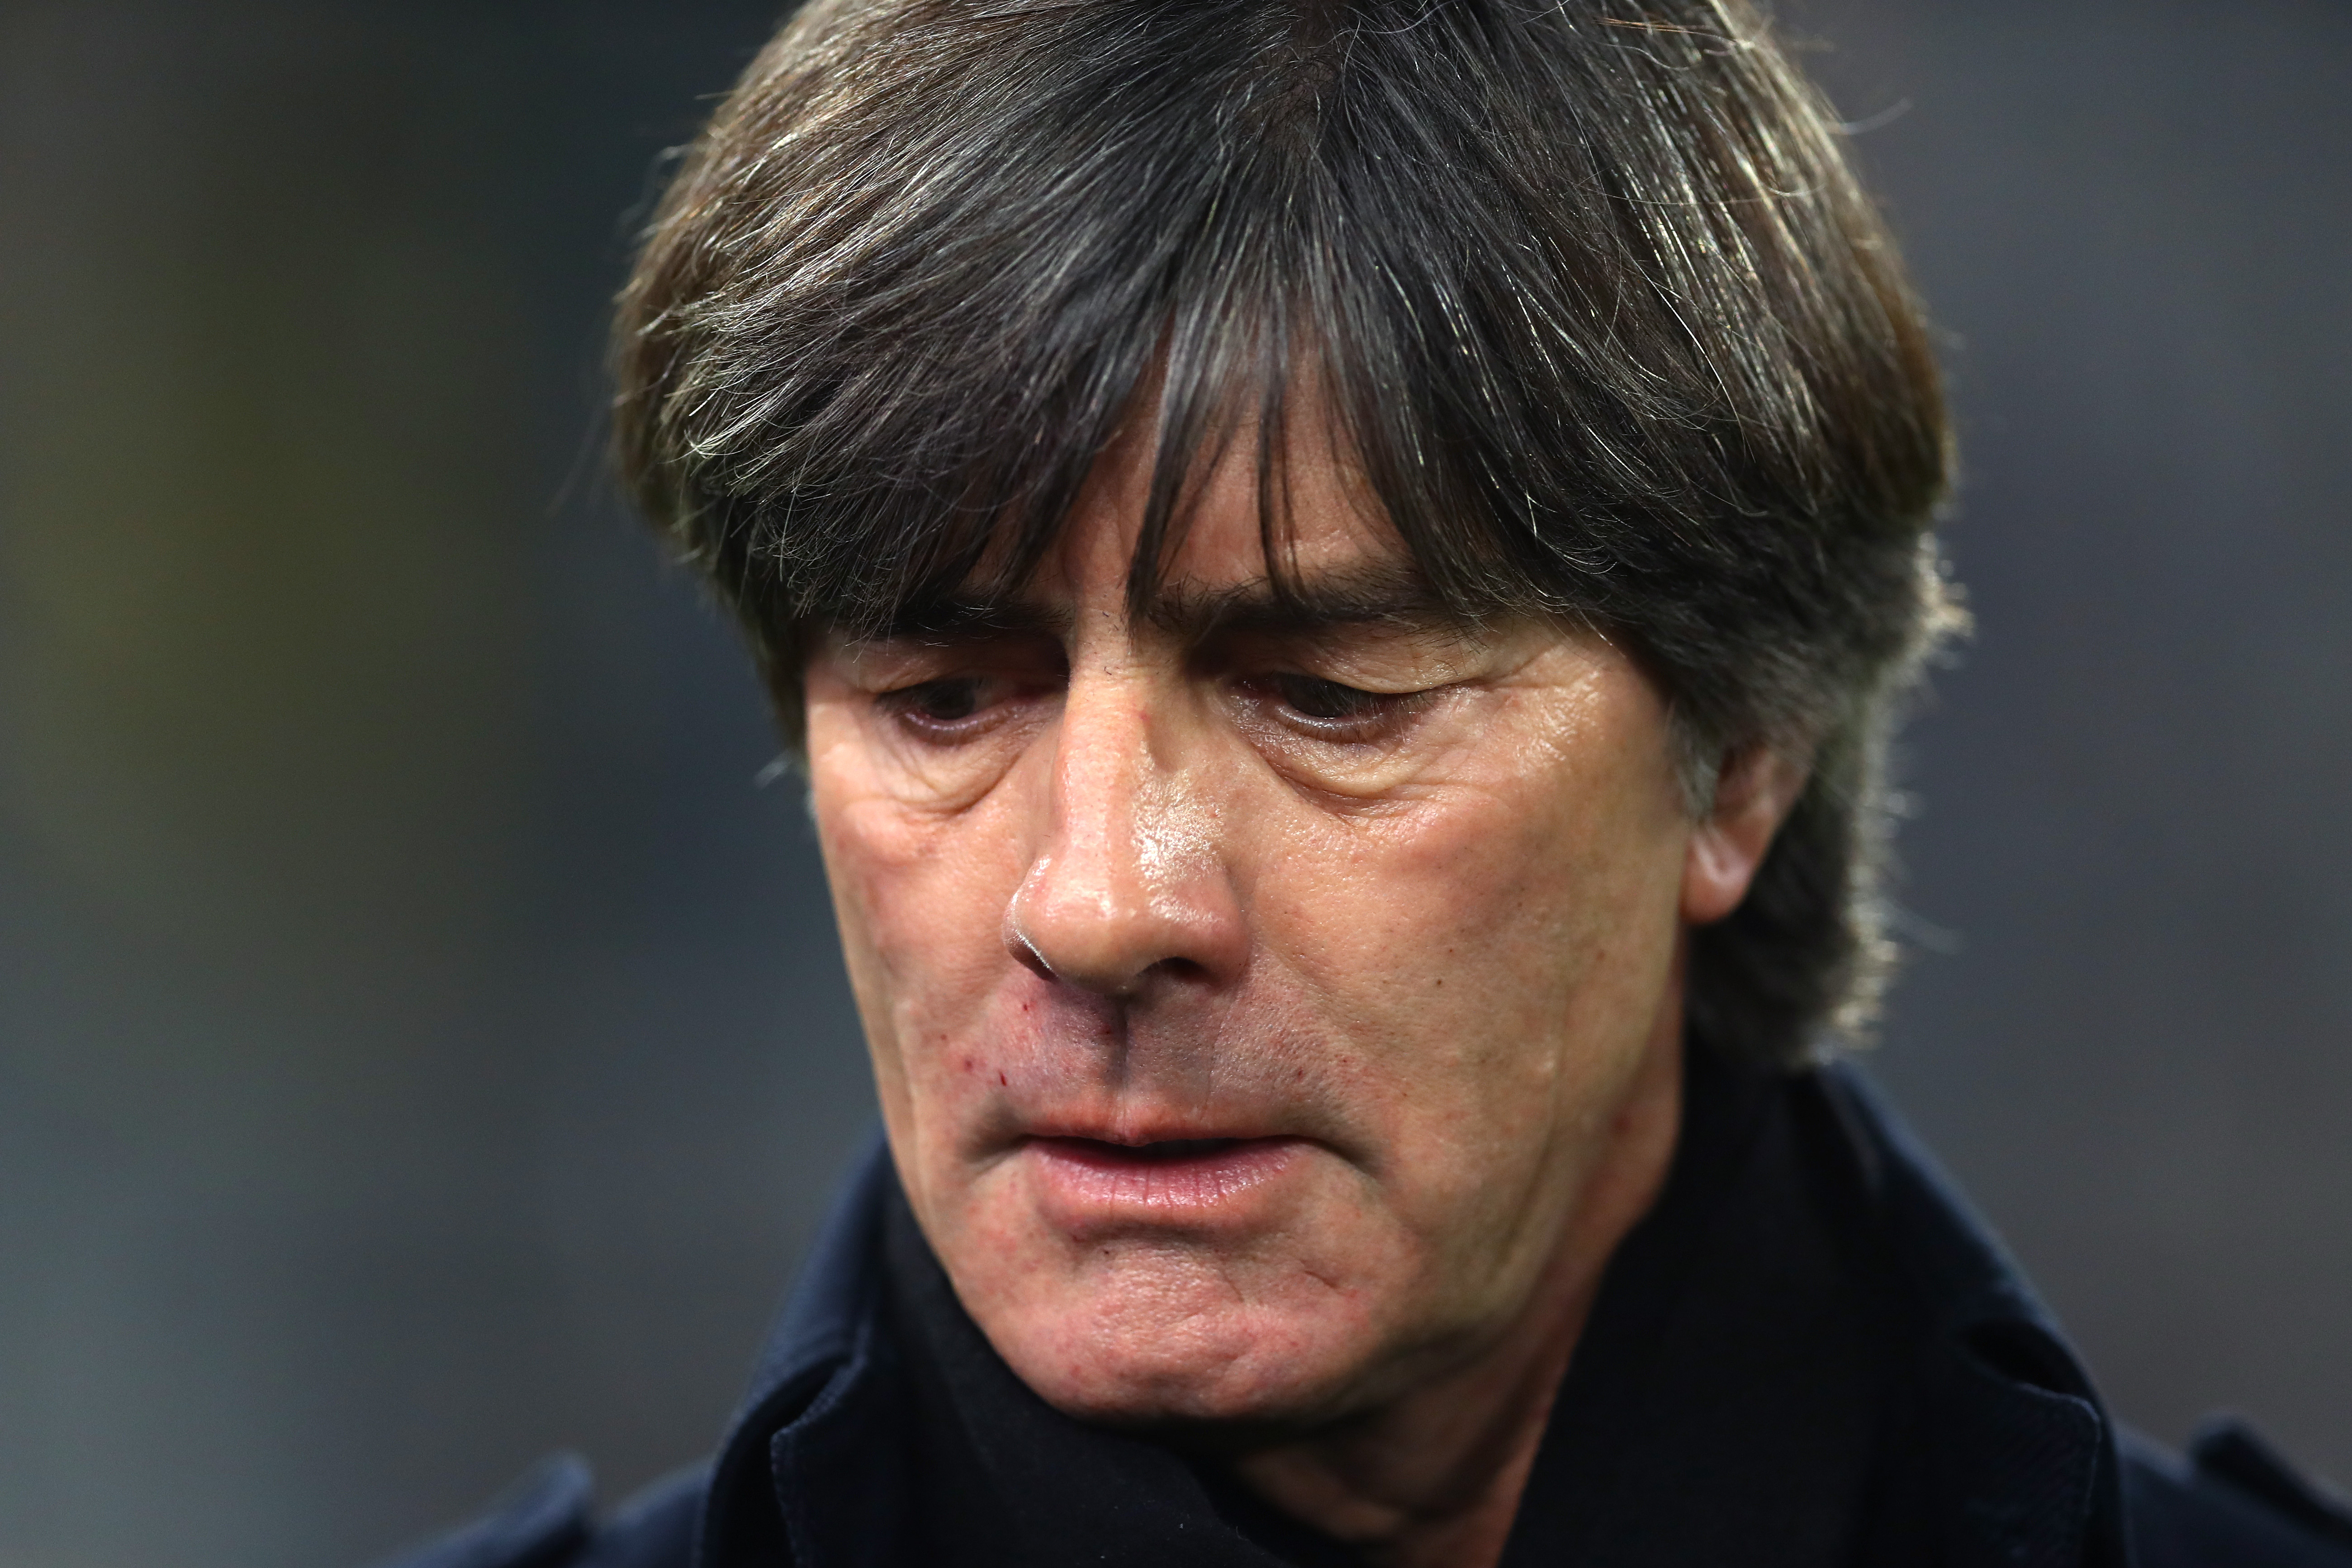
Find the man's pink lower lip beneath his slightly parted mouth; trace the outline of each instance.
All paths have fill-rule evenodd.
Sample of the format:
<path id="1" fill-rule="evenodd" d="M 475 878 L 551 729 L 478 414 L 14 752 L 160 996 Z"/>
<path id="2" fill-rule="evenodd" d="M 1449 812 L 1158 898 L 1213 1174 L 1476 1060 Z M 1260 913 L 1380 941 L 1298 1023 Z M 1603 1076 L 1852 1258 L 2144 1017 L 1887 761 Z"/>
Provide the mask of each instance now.
<path id="1" fill-rule="evenodd" d="M 1298 1164 L 1298 1138 L 1230 1138 L 1155 1152 L 1094 1138 L 1030 1138 L 1023 1145 L 1054 1220 L 1070 1229 L 1204 1225 L 1244 1218 L 1265 1187 Z"/>

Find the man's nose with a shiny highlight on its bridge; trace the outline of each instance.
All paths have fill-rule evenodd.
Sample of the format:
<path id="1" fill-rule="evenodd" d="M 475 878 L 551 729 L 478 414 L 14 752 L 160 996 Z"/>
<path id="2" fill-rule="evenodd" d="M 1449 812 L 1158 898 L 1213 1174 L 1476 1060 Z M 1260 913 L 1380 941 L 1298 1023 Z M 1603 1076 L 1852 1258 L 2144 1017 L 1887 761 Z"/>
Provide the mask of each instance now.
<path id="1" fill-rule="evenodd" d="M 1037 849 L 1004 912 L 1007 950 L 1040 976 L 1124 999 L 1247 957 L 1223 811 L 1167 708 L 1141 679 L 1070 679 Z"/>

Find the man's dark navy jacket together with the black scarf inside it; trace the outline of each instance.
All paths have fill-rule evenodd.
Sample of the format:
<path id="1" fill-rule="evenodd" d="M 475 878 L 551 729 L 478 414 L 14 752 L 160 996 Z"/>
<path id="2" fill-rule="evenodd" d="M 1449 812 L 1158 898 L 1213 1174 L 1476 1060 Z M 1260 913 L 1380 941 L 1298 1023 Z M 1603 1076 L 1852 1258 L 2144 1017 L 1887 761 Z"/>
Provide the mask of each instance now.
<path id="1" fill-rule="evenodd" d="M 2352 1512 L 2246 1427 L 2105 1413 L 2016 1265 L 1849 1067 L 1693 1051 L 1675 1171 L 1611 1260 L 1503 1568 L 2352 1568 Z M 708 1467 L 595 1523 L 553 1460 L 405 1568 L 1345 1563 L 988 1349 L 875 1147 Z"/>

